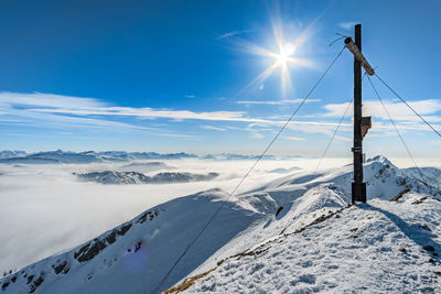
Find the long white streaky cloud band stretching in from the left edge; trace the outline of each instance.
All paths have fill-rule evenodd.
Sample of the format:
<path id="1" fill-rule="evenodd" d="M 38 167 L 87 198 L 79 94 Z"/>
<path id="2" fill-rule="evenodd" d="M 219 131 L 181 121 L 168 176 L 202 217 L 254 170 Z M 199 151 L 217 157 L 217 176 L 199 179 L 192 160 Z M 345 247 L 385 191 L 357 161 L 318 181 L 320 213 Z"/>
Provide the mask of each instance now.
<path id="1" fill-rule="evenodd" d="M 51 118 L 63 121 L 84 120 L 84 123 L 110 123 L 115 121 L 97 119 L 97 117 L 136 119 L 170 119 L 170 120 L 203 120 L 203 121 L 229 121 L 248 122 L 267 126 L 279 126 L 283 121 L 269 120 L 262 118 L 247 117 L 245 111 L 203 111 L 174 110 L 174 109 L 153 109 L 149 107 L 118 107 L 110 106 L 94 98 L 77 98 L 51 94 L 11 94 L 0 92 L 0 113 L 12 115 L 14 117 Z M 4 116 L 4 115 L 3 115 Z M 90 118 L 93 117 L 93 118 Z M 298 123 L 321 124 L 315 121 L 299 121 Z M 325 122 L 324 122 L 325 123 Z M 112 124 L 114 126 L 114 124 Z M 123 124 L 120 124 L 123 126 Z"/>

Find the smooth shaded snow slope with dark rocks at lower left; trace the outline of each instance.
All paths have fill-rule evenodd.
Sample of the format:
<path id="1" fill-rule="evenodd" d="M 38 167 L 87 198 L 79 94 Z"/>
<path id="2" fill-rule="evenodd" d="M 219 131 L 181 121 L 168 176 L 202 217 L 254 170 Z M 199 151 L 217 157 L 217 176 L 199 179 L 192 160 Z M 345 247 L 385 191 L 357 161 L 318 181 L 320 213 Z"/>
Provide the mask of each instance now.
<path id="1" fill-rule="evenodd" d="M 178 258 L 224 198 L 220 190 L 207 190 L 151 208 L 89 242 L 2 279 L 1 288 L 4 293 L 149 293 L 168 271 L 165 264 Z M 224 208 L 205 241 L 189 252 L 164 287 L 259 218 L 234 203 Z"/>

